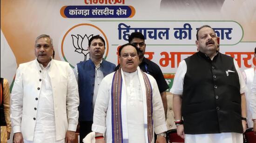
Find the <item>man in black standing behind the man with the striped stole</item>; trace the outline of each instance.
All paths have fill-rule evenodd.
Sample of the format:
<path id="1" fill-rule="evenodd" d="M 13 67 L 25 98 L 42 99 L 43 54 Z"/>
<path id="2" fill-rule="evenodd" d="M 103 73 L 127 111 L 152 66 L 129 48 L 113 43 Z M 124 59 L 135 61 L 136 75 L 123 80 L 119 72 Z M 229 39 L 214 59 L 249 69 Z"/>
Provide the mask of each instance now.
<path id="1" fill-rule="evenodd" d="M 162 98 L 162 104 L 165 112 L 167 114 L 167 99 L 166 90 L 169 88 L 167 82 L 165 81 L 161 68 L 155 63 L 148 60 L 144 54 L 146 50 L 145 37 L 140 32 L 133 32 L 128 37 L 128 42 L 130 44 L 135 44 L 139 49 L 139 66 L 141 70 L 155 78 L 159 92 Z M 119 65 L 115 68 L 117 70 Z"/>

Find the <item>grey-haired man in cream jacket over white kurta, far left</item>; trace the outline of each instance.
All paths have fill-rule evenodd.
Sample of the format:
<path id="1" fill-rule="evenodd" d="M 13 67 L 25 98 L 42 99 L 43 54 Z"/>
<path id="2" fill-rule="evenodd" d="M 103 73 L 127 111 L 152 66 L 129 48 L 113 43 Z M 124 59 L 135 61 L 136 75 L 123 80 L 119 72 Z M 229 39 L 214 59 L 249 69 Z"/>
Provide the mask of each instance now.
<path id="1" fill-rule="evenodd" d="M 14 143 L 71 143 L 78 122 L 79 95 L 68 62 L 52 59 L 53 40 L 35 40 L 36 59 L 20 64 L 11 94 Z"/>

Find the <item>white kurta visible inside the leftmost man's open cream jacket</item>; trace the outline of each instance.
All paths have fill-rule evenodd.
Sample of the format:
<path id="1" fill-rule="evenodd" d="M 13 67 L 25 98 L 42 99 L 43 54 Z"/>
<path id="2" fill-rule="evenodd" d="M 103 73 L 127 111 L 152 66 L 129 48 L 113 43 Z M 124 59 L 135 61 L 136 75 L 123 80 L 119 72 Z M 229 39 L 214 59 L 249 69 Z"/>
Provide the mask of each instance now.
<path id="1" fill-rule="evenodd" d="M 37 120 L 34 130 L 34 141 L 24 140 L 25 143 L 64 143 L 65 139 L 56 142 L 56 126 L 54 117 L 54 99 L 53 90 L 51 85 L 51 79 L 48 75 L 49 67 L 51 62 L 48 63 L 47 67 L 42 69 L 42 86 L 40 92 L 38 108 L 37 110 Z"/>

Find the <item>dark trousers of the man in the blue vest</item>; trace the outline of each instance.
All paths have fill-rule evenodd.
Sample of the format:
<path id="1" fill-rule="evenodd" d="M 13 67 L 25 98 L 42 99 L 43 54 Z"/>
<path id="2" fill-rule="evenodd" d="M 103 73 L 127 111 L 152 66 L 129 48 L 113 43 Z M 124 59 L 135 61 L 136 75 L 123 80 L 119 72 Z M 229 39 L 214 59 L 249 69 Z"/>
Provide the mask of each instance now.
<path id="1" fill-rule="evenodd" d="M 80 143 L 83 143 L 83 139 L 86 135 L 92 132 L 93 121 L 79 121 L 80 124 Z"/>

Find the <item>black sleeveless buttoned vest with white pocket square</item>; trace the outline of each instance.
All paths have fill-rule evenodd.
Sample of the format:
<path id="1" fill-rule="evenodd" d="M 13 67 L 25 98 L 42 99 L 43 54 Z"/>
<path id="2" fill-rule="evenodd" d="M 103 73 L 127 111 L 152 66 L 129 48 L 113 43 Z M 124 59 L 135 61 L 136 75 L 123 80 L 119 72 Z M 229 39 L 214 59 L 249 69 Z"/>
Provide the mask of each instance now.
<path id="1" fill-rule="evenodd" d="M 202 52 L 185 59 L 182 116 L 185 134 L 243 133 L 239 76 L 233 58 Z"/>

